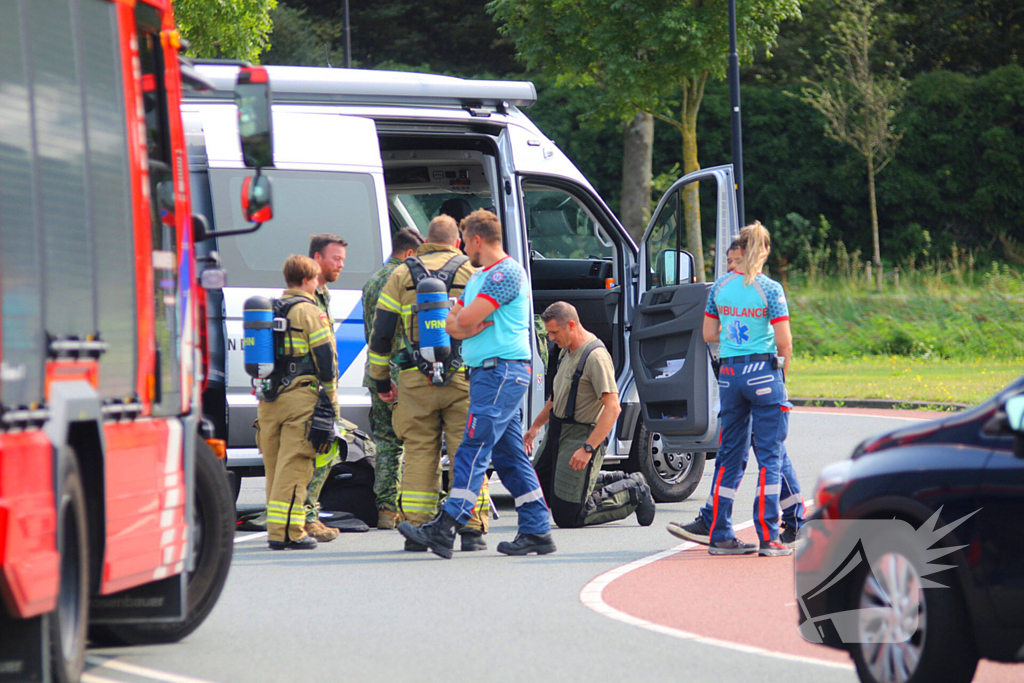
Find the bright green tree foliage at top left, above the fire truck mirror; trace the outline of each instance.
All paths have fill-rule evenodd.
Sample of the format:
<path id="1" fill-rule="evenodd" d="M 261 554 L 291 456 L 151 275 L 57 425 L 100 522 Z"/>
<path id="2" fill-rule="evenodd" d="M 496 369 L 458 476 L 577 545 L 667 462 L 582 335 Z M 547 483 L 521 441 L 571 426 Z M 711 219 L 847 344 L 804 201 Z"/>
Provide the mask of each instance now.
<path id="1" fill-rule="evenodd" d="M 258 61 L 268 46 L 278 0 L 177 0 L 174 17 L 188 54 Z"/>

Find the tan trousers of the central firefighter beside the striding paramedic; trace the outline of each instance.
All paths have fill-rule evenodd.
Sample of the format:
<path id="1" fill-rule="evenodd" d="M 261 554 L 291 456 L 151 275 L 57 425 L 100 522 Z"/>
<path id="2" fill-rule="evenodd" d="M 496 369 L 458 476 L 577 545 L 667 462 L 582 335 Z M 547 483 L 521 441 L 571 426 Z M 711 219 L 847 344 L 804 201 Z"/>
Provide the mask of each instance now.
<path id="1" fill-rule="evenodd" d="M 437 513 L 441 492 L 441 435 L 449 458 L 462 443 L 469 414 L 469 380 L 459 371 L 445 386 L 435 387 L 419 370 L 398 376 L 398 402 L 391 424 L 404 442 L 406 462 L 398 483 L 398 507 L 410 522 L 420 525 Z M 486 532 L 490 525 L 487 480 L 466 526 Z"/>

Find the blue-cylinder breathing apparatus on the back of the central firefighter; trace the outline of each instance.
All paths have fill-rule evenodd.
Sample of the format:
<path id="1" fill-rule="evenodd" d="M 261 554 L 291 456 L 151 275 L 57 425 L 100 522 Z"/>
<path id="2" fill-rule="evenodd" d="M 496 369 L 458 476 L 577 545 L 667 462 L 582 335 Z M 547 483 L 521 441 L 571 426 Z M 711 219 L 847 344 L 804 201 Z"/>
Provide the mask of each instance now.
<path id="1" fill-rule="evenodd" d="M 430 378 L 434 386 L 444 386 L 455 371 L 462 367 L 461 344 L 453 341 L 444 331 L 444 321 L 452 309 L 449 292 L 455 282 L 455 273 L 469 257 L 460 254 L 437 270 L 427 270 L 423 261 L 413 256 L 406 259 L 409 273 L 416 285 L 416 315 L 418 339 L 410 346 L 413 359 L 420 372 Z"/>

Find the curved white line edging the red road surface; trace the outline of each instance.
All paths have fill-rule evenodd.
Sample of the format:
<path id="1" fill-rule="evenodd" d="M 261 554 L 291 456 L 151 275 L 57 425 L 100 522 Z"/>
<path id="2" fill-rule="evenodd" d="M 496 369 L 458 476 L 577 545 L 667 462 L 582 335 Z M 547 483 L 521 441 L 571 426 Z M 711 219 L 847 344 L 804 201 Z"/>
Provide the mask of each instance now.
<path id="1" fill-rule="evenodd" d="M 735 530 L 740 530 L 744 528 L 750 528 L 754 526 L 754 520 L 743 522 L 738 524 L 733 528 Z M 580 601 L 585 605 L 596 611 L 598 614 L 603 614 L 610 618 L 623 622 L 624 624 L 629 624 L 631 626 L 638 626 L 641 629 L 647 629 L 648 631 L 653 631 L 654 633 L 662 633 L 667 636 L 675 636 L 676 638 L 682 638 L 683 640 L 692 640 L 697 643 L 703 643 L 705 645 L 715 645 L 717 647 L 724 647 L 736 652 L 745 652 L 748 654 L 760 654 L 762 656 L 774 657 L 776 659 L 785 659 L 786 661 L 799 661 L 801 664 L 813 664 L 819 667 L 828 667 L 830 669 L 843 669 L 846 671 L 853 671 L 852 664 L 841 664 L 838 661 L 826 661 L 824 659 L 815 659 L 813 657 L 801 656 L 799 654 L 786 654 L 784 652 L 773 652 L 772 650 L 766 650 L 763 647 L 755 647 L 754 645 L 743 645 L 741 643 L 734 643 L 728 640 L 720 640 L 718 638 L 710 638 L 708 636 L 701 636 L 698 633 L 691 633 L 689 631 L 683 631 L 681 629 L 674 629 L 672 627 L 663 626 L 660 624 L 655 624 L 653 622 L 648 622 L 645 618 L 640 618 L 639 616 L 633 616 L 632 614 L 627 614 L 624 611 L 620 611 L 606 603 L 602 594 L 604 589 L 611 584 L 616 579 L 625 577 L 626 574 L 639 569 L 640 567 L 646 566 L 653 562 L 656 562 L 666 557 L 672 557 L 677 553 L 681 553 L 684 550 L 689 550 L 690 548 L 696 548 L 699 544 L 687 542 L 676 546 L 675 548 L 670 548 L 669 550 L 663 550 L 659 553 L 653 555 L 648 555 L 647 557 L 642 557 L 638 560 L 630 562 L 629 564 L 624 564 L 621 567 L 610 569 L 605 571 L 601 575 L 597 577 L 589 584 L 584 586 L 583 590 L 580 592 Z"/>

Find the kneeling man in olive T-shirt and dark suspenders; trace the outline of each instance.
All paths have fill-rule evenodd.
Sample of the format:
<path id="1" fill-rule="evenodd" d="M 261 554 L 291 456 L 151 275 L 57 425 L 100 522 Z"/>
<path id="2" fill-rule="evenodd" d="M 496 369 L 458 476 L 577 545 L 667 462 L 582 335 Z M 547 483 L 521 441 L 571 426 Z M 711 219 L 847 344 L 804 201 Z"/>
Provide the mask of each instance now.
<path id="1" fill-rule="evenodd" d="M 636 512 L 641 525 L 650 525 L 654 499 L 643 475 L 601 471 L 605 440 L 622 412 L 611 355 L 570 304 L 556 301 L 541 319 L 562 350 L 549 361 L 557 362 L 552 393 L 523 443 L 532 453 L 541 427 L 550 424 L 535 468 L 555 523 L 589 526 Z"/>

